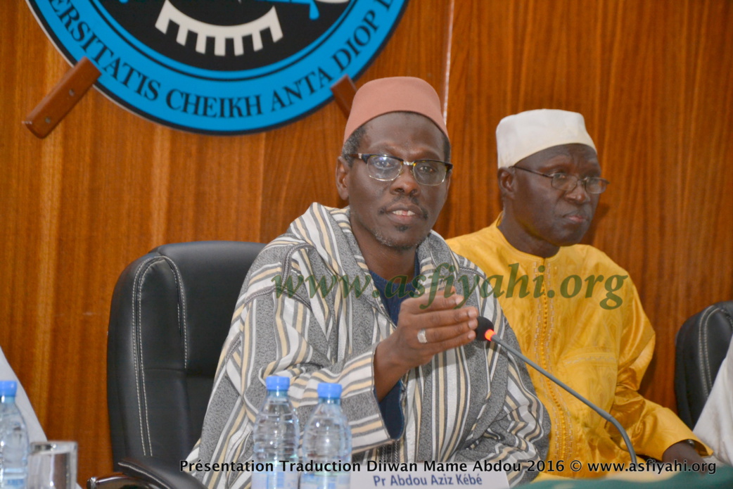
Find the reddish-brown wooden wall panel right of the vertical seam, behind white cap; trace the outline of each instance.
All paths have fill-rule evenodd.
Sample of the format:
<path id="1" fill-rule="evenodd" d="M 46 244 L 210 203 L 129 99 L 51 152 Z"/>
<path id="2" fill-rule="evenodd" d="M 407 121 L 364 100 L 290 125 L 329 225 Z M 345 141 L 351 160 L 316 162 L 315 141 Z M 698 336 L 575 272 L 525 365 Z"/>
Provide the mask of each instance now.
<path id="1" fill-rule="evenodd" d="M 583 113 L 611 180 L 588 241 L 635 281 L 658 334 L 645 391 L 673 407 L 674 334 L 686 317 L 733 298 L 733 4 L 456 3 L 456 174 L 438 229 L 471 232 L 500 212 L 501 117 Z"/>

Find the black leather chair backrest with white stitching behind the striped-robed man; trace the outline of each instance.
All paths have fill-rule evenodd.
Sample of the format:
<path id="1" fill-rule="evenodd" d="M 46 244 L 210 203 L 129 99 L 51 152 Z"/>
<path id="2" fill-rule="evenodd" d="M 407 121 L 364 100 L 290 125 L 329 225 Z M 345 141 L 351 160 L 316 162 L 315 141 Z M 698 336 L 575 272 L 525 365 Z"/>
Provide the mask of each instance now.
<path id="1" fill-rule="evenodd" d="M 191 452 L 237 297 L 263 246 L 167 244 L 119 276 L 107 339 L 115 470 L 124 457 L 179 463 Z"/>

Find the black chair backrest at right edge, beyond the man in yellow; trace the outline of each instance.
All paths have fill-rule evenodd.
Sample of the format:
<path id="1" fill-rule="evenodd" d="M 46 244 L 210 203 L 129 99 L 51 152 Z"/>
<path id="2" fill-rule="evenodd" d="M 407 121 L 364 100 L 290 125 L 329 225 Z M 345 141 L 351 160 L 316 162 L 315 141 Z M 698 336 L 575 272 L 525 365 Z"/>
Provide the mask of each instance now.
<path id="1" fill-rule="evenodd" d="M 675 338 L 677 413 L 695 427 L 733 337 L 733 301 L 706 307 L 682 324 Z"/>

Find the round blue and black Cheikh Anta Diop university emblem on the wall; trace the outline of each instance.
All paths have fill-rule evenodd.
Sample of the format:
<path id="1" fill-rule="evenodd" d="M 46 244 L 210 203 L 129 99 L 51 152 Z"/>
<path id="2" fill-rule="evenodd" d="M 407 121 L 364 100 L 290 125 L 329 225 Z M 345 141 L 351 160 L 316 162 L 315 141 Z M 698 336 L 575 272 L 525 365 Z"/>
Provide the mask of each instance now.
<path id="1" fill-rule="evenodd" d="M 97 87 L 172 128 L 257 132 L 298 120 L 357 78 L 408 0 L 26 0 Z"/>

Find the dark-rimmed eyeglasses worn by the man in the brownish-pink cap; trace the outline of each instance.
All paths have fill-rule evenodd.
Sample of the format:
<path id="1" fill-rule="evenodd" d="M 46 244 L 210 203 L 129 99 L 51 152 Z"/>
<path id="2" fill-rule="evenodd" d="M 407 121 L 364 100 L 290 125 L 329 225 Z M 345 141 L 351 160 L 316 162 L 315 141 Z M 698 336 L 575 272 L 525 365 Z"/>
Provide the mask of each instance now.
<path id="1" fill-rule="evenodd" d="M 446 174 L 453 169 L 451 163 L 438 160 L 405 161 L 397 156 L 367 155 L 361 152 L 347 155 L 350 158 L 359 158 L 367 163 L 369 177 L 382 182 L 391 182 L 400 174 L 405 165 L 411 166 L 413 177 L 420 185 L 440 185 L 446 180 Z"/>

